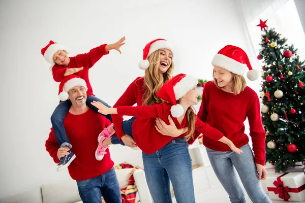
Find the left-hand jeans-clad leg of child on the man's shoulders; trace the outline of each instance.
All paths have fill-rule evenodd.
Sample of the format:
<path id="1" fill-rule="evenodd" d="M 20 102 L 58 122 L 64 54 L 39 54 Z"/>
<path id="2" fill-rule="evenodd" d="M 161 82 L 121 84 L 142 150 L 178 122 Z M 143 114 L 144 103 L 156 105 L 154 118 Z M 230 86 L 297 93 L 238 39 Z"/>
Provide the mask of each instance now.
<path id="1" fill-rule="evenodd" d="M 65 127 L 64 119 L 71 107 L 70 100 L 62 101 L 54 110 L 51 116 L 51 123 L 54 129 L 55 137 L 60 147 L 68 146 L 71 149 L 71 144 L 69 142 Z"/>

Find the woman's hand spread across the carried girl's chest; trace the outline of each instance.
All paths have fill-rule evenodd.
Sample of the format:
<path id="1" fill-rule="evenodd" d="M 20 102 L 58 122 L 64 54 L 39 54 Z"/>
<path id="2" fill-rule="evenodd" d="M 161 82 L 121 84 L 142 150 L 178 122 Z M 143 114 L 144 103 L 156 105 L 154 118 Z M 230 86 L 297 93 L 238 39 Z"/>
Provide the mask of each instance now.
<path id="1" fill-rule="evenodd" d="M 168 120 L 169 120 L 169 125 L 167 125 L 160 118 L 156 119 L 156 123 L 157 123 L 156 129 L 158 130 L 158 132 L 160 132 L 164 136 L 170 136 L 170 137 L 176 138 L 176 137 L 179 137 L 181 134 L 188 131 L 187 127 L 178 129 L 176 127 L 173 119 L 170 116 L 168 116 Z"/>

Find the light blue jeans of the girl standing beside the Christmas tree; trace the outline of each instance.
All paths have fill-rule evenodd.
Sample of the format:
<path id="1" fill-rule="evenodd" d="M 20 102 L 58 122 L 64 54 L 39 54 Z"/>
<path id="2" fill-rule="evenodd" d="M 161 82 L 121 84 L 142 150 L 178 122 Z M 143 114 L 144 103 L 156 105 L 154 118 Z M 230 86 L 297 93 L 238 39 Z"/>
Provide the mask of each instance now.
<path id="1" fill-rule="evenodd" d="M 236 154 L 233 151 L 219 152 L 206 148 L 212 168 L 229 194 L 231 202 L 246 203 L 245 194 L 238 183 L 234 167 L 252 202 L 272 202 L 263 191 L 258 179 L 250 146 L 247 144 L 240 147 L 240 149 L 243 154 Z"/>

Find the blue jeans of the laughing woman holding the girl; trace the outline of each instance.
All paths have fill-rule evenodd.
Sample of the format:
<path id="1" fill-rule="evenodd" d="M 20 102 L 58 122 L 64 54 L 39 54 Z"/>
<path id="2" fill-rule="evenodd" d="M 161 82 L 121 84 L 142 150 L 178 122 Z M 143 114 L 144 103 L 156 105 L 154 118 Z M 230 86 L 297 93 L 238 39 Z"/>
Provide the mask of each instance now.
<path id="1" fill-rule="evenodd" d="M 195 203 L 192 160 L 184 139 L 172 140 L 153 154 L 142 152 L 145 177 L 155 203 L 171 203 L 170 182 L 177 203 Z"/>

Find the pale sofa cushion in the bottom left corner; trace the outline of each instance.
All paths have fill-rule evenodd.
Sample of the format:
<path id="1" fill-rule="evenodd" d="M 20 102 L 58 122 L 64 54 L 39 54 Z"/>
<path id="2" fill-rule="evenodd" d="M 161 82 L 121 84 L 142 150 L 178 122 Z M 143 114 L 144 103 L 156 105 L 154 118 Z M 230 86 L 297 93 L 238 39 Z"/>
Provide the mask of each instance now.
<path id="1" fill-rule="evenodd" d="M 41 188 L 33 189 L 0 199 L 1 203 L 42 203 Z"/>

